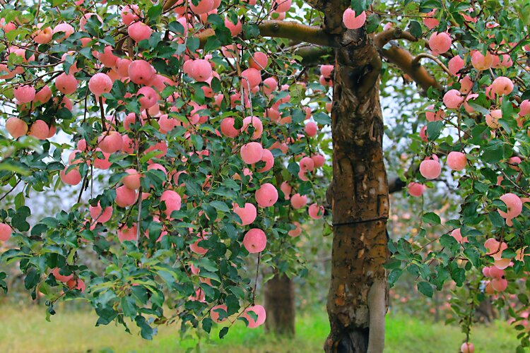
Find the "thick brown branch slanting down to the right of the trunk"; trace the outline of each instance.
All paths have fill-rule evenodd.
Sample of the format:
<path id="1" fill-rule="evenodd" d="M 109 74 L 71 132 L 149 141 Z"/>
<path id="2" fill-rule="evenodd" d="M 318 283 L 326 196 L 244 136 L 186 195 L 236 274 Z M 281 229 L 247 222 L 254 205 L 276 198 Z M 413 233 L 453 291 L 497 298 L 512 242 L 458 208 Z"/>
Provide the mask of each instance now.
<path id="1" fill-rule="evenodd" d="M 411 76 L 411 78 L 423 88 L 428 90 L 430 87 L 438 90 L 442 89 L 442 85 L 430 75 L 430 73 L 423 68 L 423 66 L 414 66 L 413 57 L 411 53 L 405 49 L 392 45 L 389 49 L 382 49 L 382 54 L 389 62 L 398 66 L 401 71 Z"/>

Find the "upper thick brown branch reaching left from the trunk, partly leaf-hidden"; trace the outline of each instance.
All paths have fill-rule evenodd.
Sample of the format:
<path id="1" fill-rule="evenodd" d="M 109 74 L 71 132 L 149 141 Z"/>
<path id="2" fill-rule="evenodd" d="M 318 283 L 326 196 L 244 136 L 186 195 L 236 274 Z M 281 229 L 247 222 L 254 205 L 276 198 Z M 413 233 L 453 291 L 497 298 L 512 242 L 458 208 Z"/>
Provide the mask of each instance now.
<path id="1" fill-rule="evenodd" d="M 329 35 L 317 26 L 302 25 L 301 23 L 292 21 L 264 20 L 258 24 L 258 29 L 261 37 L 285 38 L 295 42 L 304 42 L 324 47 L 338 47 L 336 36 Z M 208 28 L 203 32 L 197 33 L 196 37 L 199 38 L 201 47 L 204 47 L 208 38 L 215 35 L 216 32 Z"/>

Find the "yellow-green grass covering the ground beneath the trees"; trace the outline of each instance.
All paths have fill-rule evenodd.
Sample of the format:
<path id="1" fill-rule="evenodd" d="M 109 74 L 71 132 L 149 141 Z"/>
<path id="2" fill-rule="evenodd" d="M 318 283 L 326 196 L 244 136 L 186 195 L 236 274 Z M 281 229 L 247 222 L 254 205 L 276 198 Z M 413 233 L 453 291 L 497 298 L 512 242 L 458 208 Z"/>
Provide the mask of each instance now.
<path id="1" fill-rule="evenodd" d="M 45 321 L 45 309 L 0 307 L 0 352 L 185 352 L 196 340 L 179 340 L 177 328 L 160 328 L 153 341 L 142 340 L 122 327 L 94 327 L 95 314 L 59 311 Z M 133 326 L 133 325 L 131 325 Z M 250 330 L 237 322 L 224 340 L 201 340 L 195 352 L 322 352 L 329 325 L 324 313 L 298 316 L 295 340 L 271 340 L 261 328 Z M 216 331 L 217 333 L 217 331 Z M 217 335 L 212 337 L 217 337 Z M 464 335 L 458 327 L 422 322 L 410 316 L 387 320 L 385 352 L 458 351 Z M 478 326 L 473 331 L 476 352 L 514 352 L 517 340 L 508 325 Z"/>

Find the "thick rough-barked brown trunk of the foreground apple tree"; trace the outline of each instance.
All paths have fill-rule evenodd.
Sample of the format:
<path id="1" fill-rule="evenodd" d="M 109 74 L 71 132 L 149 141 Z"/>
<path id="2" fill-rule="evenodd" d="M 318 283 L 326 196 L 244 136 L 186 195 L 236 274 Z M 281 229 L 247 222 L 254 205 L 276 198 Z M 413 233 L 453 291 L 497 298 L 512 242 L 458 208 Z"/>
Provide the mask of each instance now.
<path id="1" fill-rule="evenodd" d="M 379 54 L 364 30 L 336 51 L 331 110 L 334 238 L 326 352 L 382 352 L 387 310 L 388 181 L 379 104 Z"/>

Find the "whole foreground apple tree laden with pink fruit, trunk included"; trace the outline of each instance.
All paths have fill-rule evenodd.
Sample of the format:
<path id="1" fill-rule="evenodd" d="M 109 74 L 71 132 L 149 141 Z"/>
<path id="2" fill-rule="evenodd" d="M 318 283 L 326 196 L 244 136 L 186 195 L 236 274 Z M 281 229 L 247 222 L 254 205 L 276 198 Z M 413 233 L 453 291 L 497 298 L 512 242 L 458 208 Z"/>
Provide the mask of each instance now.
<path id="1" fill-rule="evenodd" d="M 16 244 L 2 259 L 20 261 L 25 287 L 47 296 L 50 314 L 59 299 L 84 298 L 98 324 L 130 318 L 146 338 L 177 318 L 182 330 L 235 318 L 253 328 L 266 318 L 256 304 L 260 266 L 276 273 L 295 263 L 288 236 L 299 234 L 296 222 L 324 215 L 332 174 L 324 349 L 381 352 L 387 280 L 406 270 L 428 297 L 454 282 L 461 350 L 470 352 L 486 295 L 518 294 L 515 321 L 528 303 L 516 280 L 530 270 L 528 9 L 438 0 L 5 4 L 11 138 L 2 140 L 0 180 L 7 193 L 23 191 L 0 214 L 0 240 L 14 230 Z M 323 61 L 331 65 L 312 68 Z M 462 202 L 443 224 L 421 208 L 418 232 L 389 241 L 380 95 L 410 93 L 388 89 L 396 73 L 416 82 L 425 98 L 409 97 L 425 104 L 389 134 L 391 153 L 407 152 L 391 189 L 406 184 L 418 197 L 441 180 L 457 184 Z M 53 140 L 57 129 L 65 143 Z M 331 171 L 321 169 L 325 156 Z M 80 185 L 76 203 L 30 225 L 25 199 L 52 184 Z M 85 251 L 104 270 L 83 263 Z"/>

